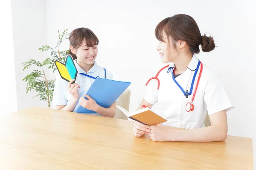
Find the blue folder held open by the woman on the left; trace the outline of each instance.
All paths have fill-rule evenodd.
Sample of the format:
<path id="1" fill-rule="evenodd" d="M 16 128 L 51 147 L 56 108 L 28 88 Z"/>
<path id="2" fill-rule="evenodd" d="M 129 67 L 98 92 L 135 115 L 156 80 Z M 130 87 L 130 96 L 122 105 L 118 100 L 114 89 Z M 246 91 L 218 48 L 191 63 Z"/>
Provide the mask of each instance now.
<path id="1" fill-rule="evenodd" d="M 96 78 L 86 94 L 93 98 L 98 105 L 104 108 L 109 108 L 129 85 L 131 85 L 131 82 Z M 87 99 L 86 97 L 84 98 Z M 79 106 L 74 112 L 96 113 L 95 111 L 83 108 L 82 106 Z"/>

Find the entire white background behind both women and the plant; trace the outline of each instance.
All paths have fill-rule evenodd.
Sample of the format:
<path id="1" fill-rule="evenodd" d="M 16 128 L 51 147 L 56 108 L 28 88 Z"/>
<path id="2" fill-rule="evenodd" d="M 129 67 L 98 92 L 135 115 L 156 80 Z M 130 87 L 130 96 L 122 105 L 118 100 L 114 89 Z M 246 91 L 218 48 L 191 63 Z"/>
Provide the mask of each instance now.
<path id="1" fill-rule="evenodd" d="M 6 24 L 0 27 L 4 36 L 2 59 L 6 59 L 9 66 L 0 64 L 4 82 L 0 89 L 3 90 L 2 98 L 6 99 L 3 106 L 14 106 L 8 111 L 14 111 L 15 107 L 47 107 L 46 102 L 31 99 L 35 93 L 26 94 L 26 84 L 21 80 L 29 71 L 22 71 L 21 62 L 30 58 L 43 61 L 49 53 L 38 51 L 41 45 L 54 47 L 58 42 L 58 30 L 69 28 L 72 31 L 79 27 L 90 28 L 99 38 L 98 64 L 111 71 L 114 79 L 132 82 L 130 111 L 134 111 L 146 80 L 163 66 L 154 37 L 157 23 L 174 14 L 189 14 L 198 23 L 201 34 L 213 35 L 218 46 L 210 53 L 201 52 L 198 57 L 219 75 L 236 107 L 228 112 L 228 134 L 253 138 L 256 145 L 256 133 L 253 132 L 256 129 L 253 109 L 256 102 L 255 0 L 12 0 L 12 15 L 9 1 L 3 6 L 6 12 L 1 13 L 1 22 Z M 68 45 L 65 42 L 62 49 L 67 49 Z M 7 108 L 3 106 L 0 108 Z"/>

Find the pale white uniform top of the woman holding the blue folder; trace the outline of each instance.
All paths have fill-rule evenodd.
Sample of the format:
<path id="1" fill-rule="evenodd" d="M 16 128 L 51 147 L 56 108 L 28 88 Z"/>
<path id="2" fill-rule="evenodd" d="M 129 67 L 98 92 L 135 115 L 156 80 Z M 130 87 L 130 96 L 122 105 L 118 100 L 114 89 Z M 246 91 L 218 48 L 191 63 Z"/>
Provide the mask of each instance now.
<path id="1" fill-rule="evenodd" d="M 94 62 L 93 67 L 86 73 L 78 64 L 77 59 L 74 61 L 78 74 L 76 77 L 76 83 L 80 85 L 80 88 L 78 88 L 79 95 L 84 96 L 86 92 L 89 90 L 90 86 L 93 84 L 95 79 L 92 79 L 90 77 L 84 76 L 79 73 L 88 74 L 93 77 L 99 76 L 99 78 L 105 78 L 105 70 L 104 68 L 97 65 L 96 61 Z M 113 79 L 113 75 L 111 72 L 106 70 L 106 79 Z M 52 105 L 67 105 L 68 101 L 72 95 L 68 91 L 68 82 L 64 79 L 61 79 L 61 76 L 58 74 L 55 79 L 55 87 L 52 97 Z M 79 107 L 79 102 L 77 102 L 76 107 L 74 109 L 74 112 L 76 112 L 76 109 Z M 91 113 L 93 115 L 99 115 L 98 113 Z"/>

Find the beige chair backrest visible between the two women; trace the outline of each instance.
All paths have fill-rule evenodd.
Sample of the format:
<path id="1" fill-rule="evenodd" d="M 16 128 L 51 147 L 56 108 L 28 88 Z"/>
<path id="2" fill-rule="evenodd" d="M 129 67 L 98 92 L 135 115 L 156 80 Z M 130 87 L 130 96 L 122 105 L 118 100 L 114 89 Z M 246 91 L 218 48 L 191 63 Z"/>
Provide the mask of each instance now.
<path id="1" fill-rule="evenodd" d="M 127 111 L 129 111 L 130 98 L 131 98 L 131 90 L 130 89 L 126 89 L 121 94 L 121 96 L 118 98 L 118 101 L 116 102 L 116 105 L 119 105 L 122 108 L 125 108 Z M 114 118 L 128 120 L 128 117 L 125 116 L 125 114 L 122 113 L 122 111 L 120 111 L 118 108 L 116 108 L 116 116 Z"/>

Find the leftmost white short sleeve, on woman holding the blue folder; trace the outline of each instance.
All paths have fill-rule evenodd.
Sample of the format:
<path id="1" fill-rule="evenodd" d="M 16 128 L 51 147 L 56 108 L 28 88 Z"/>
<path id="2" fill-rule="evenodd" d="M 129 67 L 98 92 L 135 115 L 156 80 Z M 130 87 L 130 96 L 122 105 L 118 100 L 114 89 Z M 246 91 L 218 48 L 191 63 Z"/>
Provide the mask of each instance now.
<path id="1" fill-rule="evenodd" d="M 65 96 L 65 84 L 58 74 L 55 79 L 55 86 L 52 96 L 52 105 L 67 105 L 67 99 Z"/>

